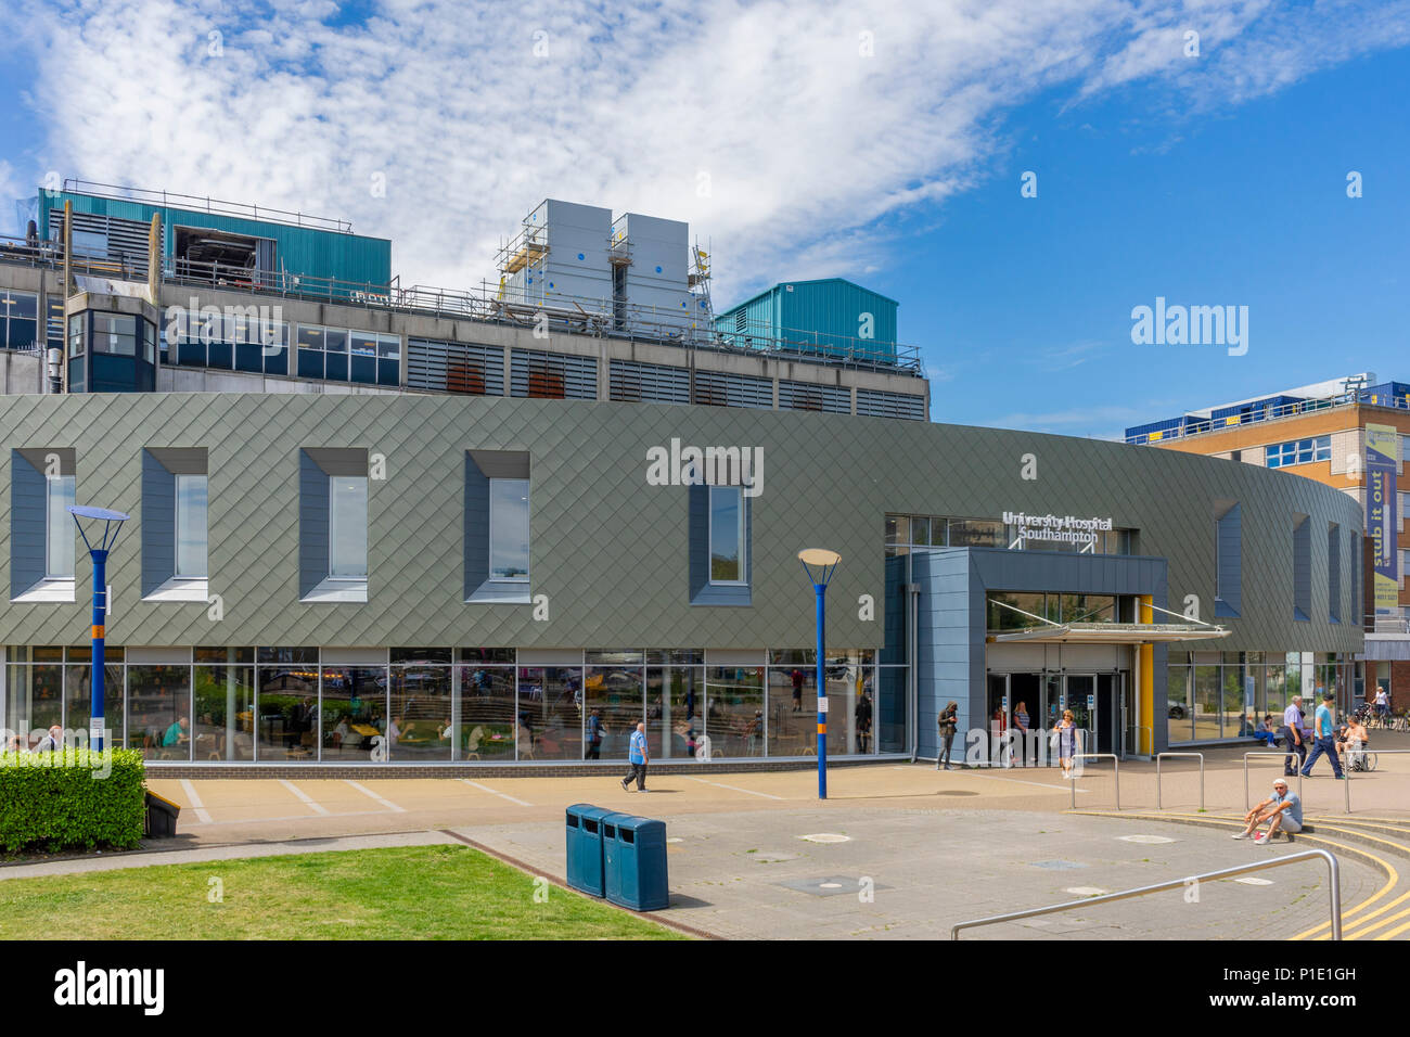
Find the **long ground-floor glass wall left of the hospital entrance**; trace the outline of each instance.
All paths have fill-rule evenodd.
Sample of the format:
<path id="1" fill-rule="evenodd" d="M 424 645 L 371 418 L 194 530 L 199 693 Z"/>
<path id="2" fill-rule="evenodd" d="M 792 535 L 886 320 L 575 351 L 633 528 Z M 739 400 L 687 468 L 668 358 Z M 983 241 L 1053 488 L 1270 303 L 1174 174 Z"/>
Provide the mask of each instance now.
<path id="1" fill-rule="evenodd" d="M 515 649 L 499 648 L 391 649 L 381 665 L 321 662 L 316 648 L 178 648 L 168 656 L 182 662 L 135 663 L 121 646 L 107 652 L 113 744 L 151 760 L 582 760 L 594 711 L 603 760 L 626 758 L 639 721 L 656 760 L 807 756 L 816 746 L 809 649 L 708 669 L 702 649 L 589 649 L 581 666 L 519 666 Z M 11 646 L 4 677 L 3 721 L 24 748 L 54 724 L 86 732 L 87 648 Z M 904 666 L 878 667 L 873 649 L 833 649 L 825 693 L 829 753 L 908 748 Z"/>

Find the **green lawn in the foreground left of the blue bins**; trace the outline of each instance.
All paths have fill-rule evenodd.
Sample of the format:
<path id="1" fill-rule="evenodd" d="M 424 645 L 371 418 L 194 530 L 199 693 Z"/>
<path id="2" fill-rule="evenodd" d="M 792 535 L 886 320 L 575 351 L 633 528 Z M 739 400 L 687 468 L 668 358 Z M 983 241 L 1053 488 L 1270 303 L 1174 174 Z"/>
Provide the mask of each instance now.
<path id="1" fill-rule="evenodd" d="M 221 903 L 209 900 L 221 880 Z M 543 886 L 540 886 L 543 889 Z M 405 847 L 0 882 L 0 938 L 682 940 L 468 847 Z M 543 893 L 540 892 L 540 897 Z M 65 918 L 35 926 L 35 918 Z"/>

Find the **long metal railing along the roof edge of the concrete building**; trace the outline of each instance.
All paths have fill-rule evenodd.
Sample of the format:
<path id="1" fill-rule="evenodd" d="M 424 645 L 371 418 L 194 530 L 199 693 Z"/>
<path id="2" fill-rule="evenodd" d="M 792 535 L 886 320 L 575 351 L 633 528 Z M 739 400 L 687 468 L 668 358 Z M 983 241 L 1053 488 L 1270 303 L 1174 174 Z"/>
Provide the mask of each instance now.
<path id="1" fill-rule="evenodd" d="M 52 241 L 0 237 L 0 262 L 62 268 L 63 250 Z M 73 255 L 73 272 L 120 281 L 145 281 L 145 257 L 133 261 Z M 391 310 L 453 320 L 477 320 L 516 327 L 540 327 L 601 339 L 660 343 L 736 354 L 764 354 L 821 363 L 832 367 L 885 371 L 921 377 L 921 351 L 915 346 L 877 343 L 815 332 L 746 327 L 722 332 L 713 320 L 688 310 L 674 312 L 640 305 L 613 305 L 611 299 L 554 296 L 551 303 L 503 298 L 498 286 L 478 289 L 434 288 L 341 281 L 261 271 L 220 262 L 165 258 L 162 281 L 168 285 L 251 292 L 288 299 L 331 302 L 368 310 Z"/>

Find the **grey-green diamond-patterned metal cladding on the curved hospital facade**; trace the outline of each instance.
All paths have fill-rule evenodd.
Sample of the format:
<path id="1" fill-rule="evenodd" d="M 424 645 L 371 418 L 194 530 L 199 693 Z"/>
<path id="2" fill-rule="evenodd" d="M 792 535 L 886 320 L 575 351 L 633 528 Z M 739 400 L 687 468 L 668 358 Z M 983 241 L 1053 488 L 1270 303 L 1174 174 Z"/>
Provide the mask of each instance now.
<path id="1" fill-rule="evenodd" d="M 764 491 L 752 501 L 753 605 L 688 601 L 688 494 L 646 484 L 646 450 L 673 436 L 695 446 L 759 446 Z M 838 550 L 829 641 L 881 643 L 883 622 L 857 617 L 857 597 L 884 604 L 881 515 L 1052 511 L 1141 530 L 1145 554 L 1169 559 L 1169 598 L 1214 598 L 1214 501 L 1244 512 L 1246 607 L 1232 636 L 1193 648 L 1351 652 L 1354 624 L 1292 621 L 1292 514 L 1361 529 L 1354 499 L 1332 487 L 1235 461 L 1149 447 L 995 429 L 790 411 L 744 411 L 479 396 L 292 396 L 130 394 L 6 396 L 0 447 L 69 443 L 80 499 L 140 515 L 141 447 L 206 446 L 210 464 L 210 591 L 200 602 L 138 601 L 138 552 L 110 563 L 114 643 L 413 645 L 525 648 L 811 643 L 814 602 L 798 567 L 804 546 Z M 299 449 L 358 444 L 388 459 L 368 484 L 369 601 L 299 604 Z M 525 605 L 467 605 L 467 450 L 533 454 L 532 593 Z M 1039 478 L 1021 475 L 1024 454 Z M 11 480 L 4 471 L 3 478 Z M 11 508 L 0 485 L 0 508 Z M 10 530 L 0 516 L 0 530 Z M 135 530 L 134 530 L 135 532 Z M 131 538 L 133 532 L 124 533 Z M 131 545 L 131 540 L 125 540 Z M 1316 545 L 1314 545 L 1316 547 Z M 8 552 L 0 553 L 7 557 Z M 1313 557 L 1323 578 L 1323 550 Z M 90 593 L 82 586 L 78 602 Z M 82 604 L 0 602 L 0 643 L 82 643 Z"/>

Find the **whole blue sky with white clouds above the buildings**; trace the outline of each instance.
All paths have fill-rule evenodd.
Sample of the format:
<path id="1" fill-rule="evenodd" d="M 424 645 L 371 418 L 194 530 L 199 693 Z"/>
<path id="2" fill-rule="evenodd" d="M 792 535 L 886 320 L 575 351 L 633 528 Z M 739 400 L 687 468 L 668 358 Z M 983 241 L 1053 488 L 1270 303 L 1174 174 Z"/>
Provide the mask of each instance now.
<path id="1" fill-rule="evenodd" d="M 898 299 L 946 422 L 1410 380 L 1403 0 L 17 0 L 0 34 L 0 224 L 54 171 L 345 216 L 460 288 L 546 196 L 687 219 L 721 309 Z M 1156 296 L 1248 306 L 1246 354 L 1132 344 Z"/>

